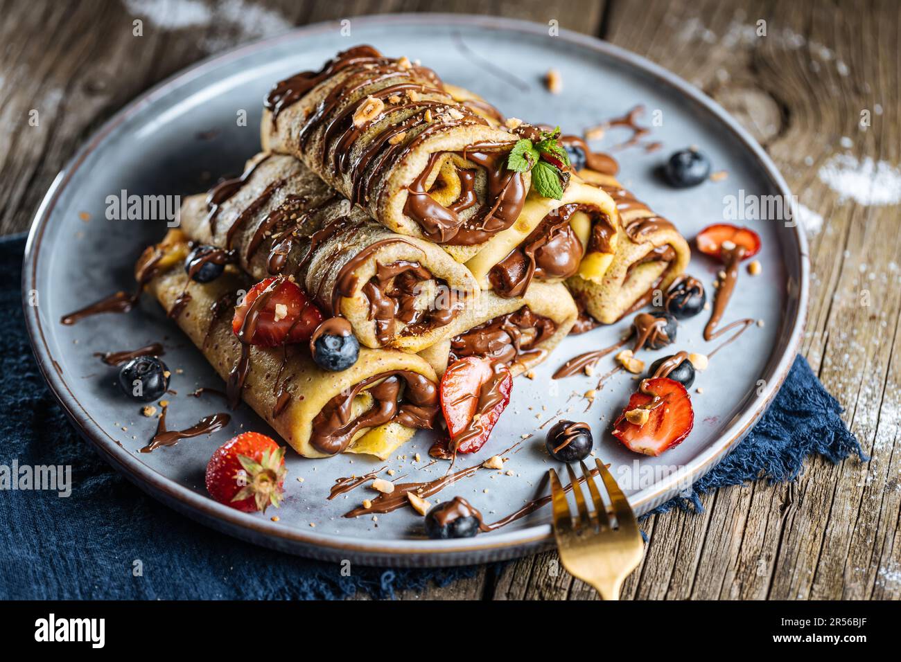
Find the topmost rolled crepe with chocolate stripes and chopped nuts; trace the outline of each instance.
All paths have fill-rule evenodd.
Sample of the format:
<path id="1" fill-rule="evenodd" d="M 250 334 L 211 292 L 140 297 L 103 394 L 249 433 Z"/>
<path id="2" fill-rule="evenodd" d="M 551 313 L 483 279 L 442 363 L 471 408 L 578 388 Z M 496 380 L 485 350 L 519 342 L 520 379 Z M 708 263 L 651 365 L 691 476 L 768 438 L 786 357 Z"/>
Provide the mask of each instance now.
<path id="1" fill-rule="evenodd" d="M 266 108 L 264 150 L 295 155 L 389 230 L 460 262 L 523 209 L 531 176 L 506 169 L 517 137 L 408 59 L 346 50 L 278 83 Z"/>

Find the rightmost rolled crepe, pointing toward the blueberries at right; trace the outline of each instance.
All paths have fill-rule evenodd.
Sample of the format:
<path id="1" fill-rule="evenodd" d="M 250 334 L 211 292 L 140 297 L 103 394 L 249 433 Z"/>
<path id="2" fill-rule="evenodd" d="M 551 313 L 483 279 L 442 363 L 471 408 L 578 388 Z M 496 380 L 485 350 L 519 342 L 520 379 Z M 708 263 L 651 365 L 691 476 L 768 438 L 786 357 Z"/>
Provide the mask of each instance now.
<path id="1" fill-rule="evenodd" d="M 676 227 L 636 200 L 612 174 L 583 168 L 579 175 L 613 198 L 621 223 L 609 266 L 593 273 L 580 269 L 567 285 L 592 317 L 609 324 L 648 304 L 655 290 L 666 290 L 691 253 Z"/>

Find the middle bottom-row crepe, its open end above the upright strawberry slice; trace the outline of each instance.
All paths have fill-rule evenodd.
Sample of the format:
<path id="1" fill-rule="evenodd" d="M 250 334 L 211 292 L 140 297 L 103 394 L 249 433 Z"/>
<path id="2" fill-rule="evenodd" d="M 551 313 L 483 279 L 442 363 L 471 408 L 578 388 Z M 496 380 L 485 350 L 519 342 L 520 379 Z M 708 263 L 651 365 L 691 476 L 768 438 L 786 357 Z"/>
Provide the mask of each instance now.
<path id="1" fill-rule="evenodd" d="M 478 356 L 505 363 L 514 376 L 537 366 L 563 340 L 578 318 L 562 284 L 532 283 L 524 296 L 483 291 L 455 320 L 454 335 L 420 352 L 443 375 L 458 358 Z"/>

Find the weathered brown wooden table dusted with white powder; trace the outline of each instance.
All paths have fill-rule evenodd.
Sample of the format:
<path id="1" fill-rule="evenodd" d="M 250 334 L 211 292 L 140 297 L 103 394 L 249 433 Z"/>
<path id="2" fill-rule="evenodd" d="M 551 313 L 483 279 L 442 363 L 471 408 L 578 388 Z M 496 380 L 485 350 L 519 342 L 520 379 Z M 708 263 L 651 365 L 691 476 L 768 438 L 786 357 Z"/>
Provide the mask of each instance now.
<path id="1" fill-rule="evenodd" d="M 138 5 L 0 2 L 0 232 L 28 227 L 73 151 L 135 95 L 197 59 L 291 25 L 410 11 L 556 19 L 657 61 L 713 96 L 769 151 L 800 202 L 824 219 L 810 233 L 802 351 L 872 459 L 835 466 L 814 458 L 794 483 L 723 489 L 703 499 L 703 514 L 651 517 L 646 558 L 624 596 L 901 597 L 901 358 L 894 351 L 901 228 L 897 204 L 867 204 L 885 194 L 886 182 L 897 184 L 901 162 L 896 0 L 229 0 L 208 11 L 198 10 L 202 0 L 174 0 L 168 7 L 177 12 L 168 14 L 159 0 L 143 11 Z M 241 6 L 246 11 L 235 9 Z M 132 36 L 136 18 L 141 38 Z M 28 123 L 32 110 L 37 127 Z M 888 179 L 840 199 L 818 172 L 843 152 L 863 172 L 884 161 Z M 407 597 L 595 598 L 559 568 L 551 552 Z"/>

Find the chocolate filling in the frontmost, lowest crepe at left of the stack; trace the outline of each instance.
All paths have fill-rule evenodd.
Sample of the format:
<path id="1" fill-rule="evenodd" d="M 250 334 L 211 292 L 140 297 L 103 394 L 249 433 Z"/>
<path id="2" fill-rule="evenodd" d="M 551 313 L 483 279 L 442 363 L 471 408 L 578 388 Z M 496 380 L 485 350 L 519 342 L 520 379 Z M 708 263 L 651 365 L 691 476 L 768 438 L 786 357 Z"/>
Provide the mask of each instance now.
<path id="1" fill-rule="evenodd" d="M 351 418 L 354 398 L 363 389 L 372 396 L 372 406 Z M 411 370 L 392 370 L 367 377 L 335 395 L 316 414 L 310 443 L 320 452 L 336 455 L 350 446 L 359 431 L 387 422 L 430 430 L 438 412 L 438 387 L 432 381 Z"/>

